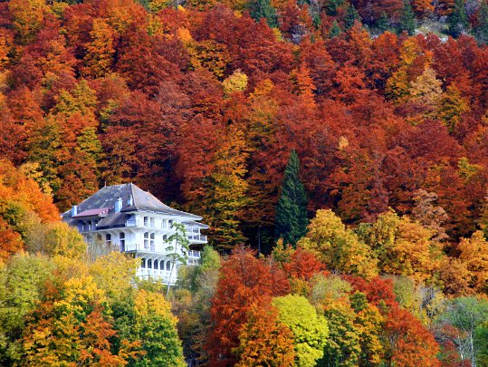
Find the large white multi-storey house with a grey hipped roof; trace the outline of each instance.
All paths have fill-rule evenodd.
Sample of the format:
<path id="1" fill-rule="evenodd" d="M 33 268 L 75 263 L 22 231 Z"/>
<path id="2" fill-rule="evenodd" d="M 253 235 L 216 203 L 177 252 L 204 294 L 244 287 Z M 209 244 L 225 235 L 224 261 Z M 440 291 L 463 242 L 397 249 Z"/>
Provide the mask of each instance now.
<path id="1" fill-rule="evenodd" d="M 137 275 L 156 277 L 165 283 L 177 280 L 173 266 L 175 249 L 187 258 L 187 265 L 198 265 L 200 248 L 206 236 L 200 231 L 208 226 L 198 223 L 202 217 L 163 204 L 158 198 L 133 184 L 107 186 L 62 214 L 62 220 L 77 227 L 85 241 L 101 241 L 140 259 Z M 174 223 L 182 223 L 190 243 L 189 251 L 167 239 L 175 233 Z"/>

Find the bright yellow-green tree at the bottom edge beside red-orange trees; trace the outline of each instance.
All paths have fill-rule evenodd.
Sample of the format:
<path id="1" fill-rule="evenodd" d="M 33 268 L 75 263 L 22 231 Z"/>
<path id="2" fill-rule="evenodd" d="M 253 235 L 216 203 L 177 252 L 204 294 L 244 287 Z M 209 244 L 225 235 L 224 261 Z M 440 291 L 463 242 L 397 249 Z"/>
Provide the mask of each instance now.
<path id="1" fill-rule="evenodd" d="M 294 334 L 296 363 L 298 367 L 315 366 L 323 355 L 329 328 L 324 317 L 301 295 L 275 297 L 279 319 Z"/>

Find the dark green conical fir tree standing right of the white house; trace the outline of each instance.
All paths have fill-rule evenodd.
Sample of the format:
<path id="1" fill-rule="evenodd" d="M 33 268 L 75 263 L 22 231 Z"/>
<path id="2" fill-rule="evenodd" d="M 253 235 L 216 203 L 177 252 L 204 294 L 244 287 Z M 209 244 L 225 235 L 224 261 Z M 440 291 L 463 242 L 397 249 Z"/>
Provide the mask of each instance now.
<path id="1" fill-rule="evenodd" d="M 295 246 L 307 230 L 307 196 L 299 177 L 300 161 L 292 150 L 282 180 L 282 192 L 276 207 L 274 229 L 277 238 Z"/>

